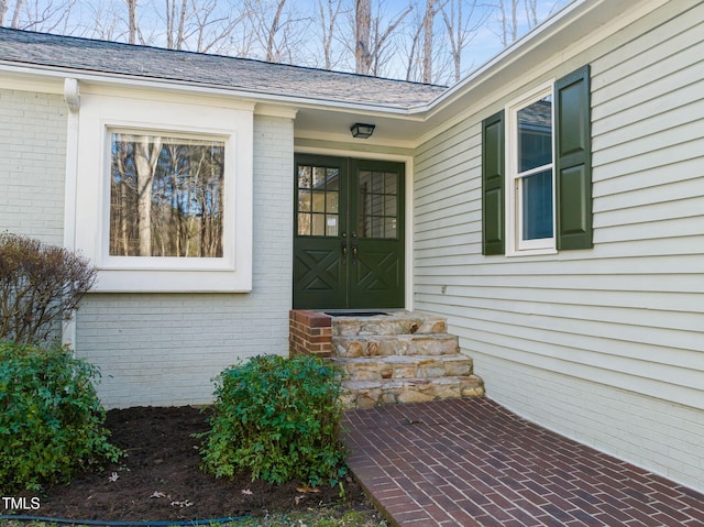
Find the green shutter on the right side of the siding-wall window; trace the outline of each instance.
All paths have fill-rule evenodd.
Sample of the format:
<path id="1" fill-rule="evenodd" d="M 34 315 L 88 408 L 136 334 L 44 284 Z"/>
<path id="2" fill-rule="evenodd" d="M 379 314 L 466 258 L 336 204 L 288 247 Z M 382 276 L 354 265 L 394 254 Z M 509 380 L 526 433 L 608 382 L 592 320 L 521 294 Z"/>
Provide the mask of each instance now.
<path id="1" fill-rule="evenodd" d="M 557 249 L 592 246 L 590 67 L 559 79 L 556 92 Z"/>

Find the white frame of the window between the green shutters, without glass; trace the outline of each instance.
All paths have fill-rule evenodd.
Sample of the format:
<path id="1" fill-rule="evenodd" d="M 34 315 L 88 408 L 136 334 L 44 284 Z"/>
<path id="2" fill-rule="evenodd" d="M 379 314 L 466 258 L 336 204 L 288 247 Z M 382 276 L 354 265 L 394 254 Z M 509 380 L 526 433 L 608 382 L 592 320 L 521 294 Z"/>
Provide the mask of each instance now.
<path id="1" fill-rule="evenodd" d="M 543 171 L 548 165 L 526 171 L 518 175 L 518 111 L 526 106 L 536 102 L 543 97 L 552 95 L 554 103 L 554 79 L 550 83 L 537 86 L 520 98 L 513 100 L 506 106 L 506 127 L 505 127 L 505 164 L 506 164 L 506 255 L 507 256 L 526 256 L 538 254 L 556 254 L 556 193 L 554 193 L 554 107 L 552 110 L 552 238 L 543 238 L 539 240 L 522 240 L 522 210 L 520 210 L 521 200 L 518 199 L 519 180 L 526 175 Z"/>

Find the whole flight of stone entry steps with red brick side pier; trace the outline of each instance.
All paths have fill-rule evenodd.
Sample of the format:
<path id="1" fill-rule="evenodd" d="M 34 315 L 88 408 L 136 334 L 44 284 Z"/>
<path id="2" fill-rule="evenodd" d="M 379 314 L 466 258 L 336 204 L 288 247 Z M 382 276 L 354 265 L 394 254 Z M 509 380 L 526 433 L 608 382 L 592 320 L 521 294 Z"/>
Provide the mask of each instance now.
<path id="1" fill-rule="evenodd" d="M 444 319 L 395 310 L 332 315 L 292 311 L 290 350 L 340 364 L 345 407 L 484 395 L 472 359 L 460 352 Z"/>

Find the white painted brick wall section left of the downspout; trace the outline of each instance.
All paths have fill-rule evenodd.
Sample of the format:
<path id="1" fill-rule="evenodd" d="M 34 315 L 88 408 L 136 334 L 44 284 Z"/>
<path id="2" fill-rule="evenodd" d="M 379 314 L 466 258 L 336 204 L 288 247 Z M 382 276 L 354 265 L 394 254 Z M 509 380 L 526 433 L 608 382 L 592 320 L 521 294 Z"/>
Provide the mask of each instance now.
<path id="1" fill-rule="evenodd" d="M 0 231 L 64 242 L 63 97 L 0 89 Z"/>

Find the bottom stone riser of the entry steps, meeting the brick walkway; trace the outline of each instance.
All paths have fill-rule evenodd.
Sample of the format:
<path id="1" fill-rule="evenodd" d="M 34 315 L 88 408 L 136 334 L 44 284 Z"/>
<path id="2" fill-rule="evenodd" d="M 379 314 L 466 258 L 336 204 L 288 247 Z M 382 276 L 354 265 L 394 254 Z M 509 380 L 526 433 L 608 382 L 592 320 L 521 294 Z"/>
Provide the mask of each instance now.
<path id="1" fill-rule="evenodd" d="M 378 405 L 482 397 L 484 395 L 482 380 L 475 375 L 431 381 L 348 382 L 343 388 L 342 403 L 346 408 L 370 408 Z"/>

